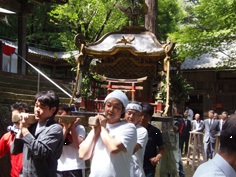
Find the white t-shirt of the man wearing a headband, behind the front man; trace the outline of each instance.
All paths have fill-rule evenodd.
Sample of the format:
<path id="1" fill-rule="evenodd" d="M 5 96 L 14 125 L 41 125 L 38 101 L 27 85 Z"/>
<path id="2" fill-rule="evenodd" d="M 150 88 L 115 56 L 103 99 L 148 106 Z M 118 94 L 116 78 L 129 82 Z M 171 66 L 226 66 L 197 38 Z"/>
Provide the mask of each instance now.
<path id="1" fill-rule="evenodd" d="M 143 170 L 143 158 L 148 141 L 148 132 L 146 128 L 140 125 L 136 126 L 136 130 L 137 130 L 137 143 L 140 144 L 142 148 L 132 155 L 132 160 L 130 163 L 130 176 L 145 177 L 145 173 Z"/>

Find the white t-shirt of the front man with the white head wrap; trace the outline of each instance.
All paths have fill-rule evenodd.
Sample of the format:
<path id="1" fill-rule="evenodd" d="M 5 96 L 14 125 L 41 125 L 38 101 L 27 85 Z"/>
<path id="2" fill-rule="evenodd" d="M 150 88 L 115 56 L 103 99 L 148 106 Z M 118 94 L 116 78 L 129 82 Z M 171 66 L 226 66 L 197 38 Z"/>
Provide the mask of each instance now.
<path id="1" fill-rule="evenodd" d="M 112 154 L 99 137 L 94 147 L 89 177 L 130 177 L 130 161 L 137 142 L 136 127 L 132 123 L 107 124 L 110 136 L 119 140 L 126 151 Z"/>

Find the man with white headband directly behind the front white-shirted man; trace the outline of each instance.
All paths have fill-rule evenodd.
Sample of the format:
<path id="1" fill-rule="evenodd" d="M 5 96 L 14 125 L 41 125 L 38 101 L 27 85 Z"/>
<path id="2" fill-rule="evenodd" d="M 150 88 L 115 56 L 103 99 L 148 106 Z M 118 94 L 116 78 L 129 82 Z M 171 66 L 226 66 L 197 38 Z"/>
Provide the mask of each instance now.
<path id="1" fill-rule="evenodd" d="M 133 123 L 136 126 L 137 131 L 137 143 L 134 147 L 130 164 L 131 177 L 145 177 L 143 170 L 143 157 L 148 141 L 148 132 L 143 126 L 138 124 L 141 114 L 142 106 L 139 103 L 131 102 L 126 106 L 125 121 Z"/>

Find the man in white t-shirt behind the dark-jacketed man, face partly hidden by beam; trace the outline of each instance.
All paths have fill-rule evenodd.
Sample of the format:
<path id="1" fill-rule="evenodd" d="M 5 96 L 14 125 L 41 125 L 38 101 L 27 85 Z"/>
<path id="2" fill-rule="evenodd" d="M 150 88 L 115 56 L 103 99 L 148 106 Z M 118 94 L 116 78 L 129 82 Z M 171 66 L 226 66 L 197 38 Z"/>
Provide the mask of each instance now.
<path id="1" fill-rule="evenodd" d="M 70 115 L 70 107 L 60 105 L 58 115 Z M 65 138 L 64 146 L 60 159 L 58 159 L 57 177 L 85 177 L 85 161 L 79 159 L 79 145 L 85 138 L 85 128 L 80 125 L 80 118 L 75 122 L 66 124 L 59 121 L 63 125 L 63 136 Z"/>

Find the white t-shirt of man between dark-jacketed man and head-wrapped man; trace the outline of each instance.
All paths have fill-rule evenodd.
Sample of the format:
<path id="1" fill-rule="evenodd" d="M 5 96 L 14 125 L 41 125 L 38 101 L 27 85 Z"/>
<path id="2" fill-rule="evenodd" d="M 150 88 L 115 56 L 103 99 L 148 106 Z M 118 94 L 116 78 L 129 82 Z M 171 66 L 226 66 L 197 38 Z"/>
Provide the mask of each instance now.
<path id="1" fill-rule="evenodd" d="M 77 125 L 76 132 L 79 136 L 85 138 L 83 125 Z M 73 143 L 63 146 L 61 157 L 57 162 L 57 171 L 85 169 L 85 161 L 79 159 L 79 150 L 74 147 Z"/>

